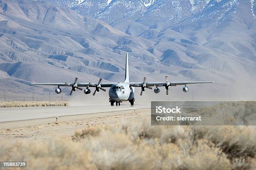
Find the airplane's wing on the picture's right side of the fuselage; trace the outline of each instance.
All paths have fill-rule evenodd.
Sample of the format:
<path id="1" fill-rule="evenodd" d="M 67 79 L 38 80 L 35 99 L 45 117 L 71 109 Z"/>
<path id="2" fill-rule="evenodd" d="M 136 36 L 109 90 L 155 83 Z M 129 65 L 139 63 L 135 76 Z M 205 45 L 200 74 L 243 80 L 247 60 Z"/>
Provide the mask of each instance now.
<path id="1" fill-rule="evenodd" d="M 201 84 L 201 83 L 213 83 L 213 81 L 167 82 L 167 84 L 169 84 L 169 86 L 188 85 L 188 84 Z M 141 87 L 142 85 L 146 85 L 147 87 L 151 87 L 151 86 L 165 86 L 166 82 L 131 82 L 130 83 L 130 86 L 133 86 L 133 87 Z"/>

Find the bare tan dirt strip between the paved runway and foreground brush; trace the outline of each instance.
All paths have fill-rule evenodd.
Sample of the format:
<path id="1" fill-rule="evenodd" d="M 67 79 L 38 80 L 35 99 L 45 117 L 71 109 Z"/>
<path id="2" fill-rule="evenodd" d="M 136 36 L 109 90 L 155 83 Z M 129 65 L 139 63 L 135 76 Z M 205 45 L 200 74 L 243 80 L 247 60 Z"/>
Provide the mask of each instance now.
<path id="1" fill-rule="evenodd" d="M 65 108 L 65 107 L 64 107 Z M 76 130 L 87 126 L 108 125 L 124 121 L 134 121 L 150 116 L 150 109 L 118 110 L 56 118 L 41 118 L 0 123 L 0 140 L 15 143 L 17 140 L 47 140 L 49 138 L 70 138 Z"/>

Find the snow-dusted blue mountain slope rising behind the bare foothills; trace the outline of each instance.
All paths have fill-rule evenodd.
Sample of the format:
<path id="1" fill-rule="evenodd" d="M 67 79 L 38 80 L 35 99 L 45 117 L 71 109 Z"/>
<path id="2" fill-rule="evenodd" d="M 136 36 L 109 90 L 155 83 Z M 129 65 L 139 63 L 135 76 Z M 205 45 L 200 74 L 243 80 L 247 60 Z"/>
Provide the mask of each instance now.
<path id="1" fill-rule="evenodd" d="M 187 18 L 192 21 L 203 16 L 217 21 L 236 13 L 243 0 L 45 0 L 56 6 L 69 7 L 81 15 L 98 18 L 106 23 L 134 20 L 144 25 L 165 23 L 173 25 Z M 250 3 L 255 18 L 256 5 Z"/>

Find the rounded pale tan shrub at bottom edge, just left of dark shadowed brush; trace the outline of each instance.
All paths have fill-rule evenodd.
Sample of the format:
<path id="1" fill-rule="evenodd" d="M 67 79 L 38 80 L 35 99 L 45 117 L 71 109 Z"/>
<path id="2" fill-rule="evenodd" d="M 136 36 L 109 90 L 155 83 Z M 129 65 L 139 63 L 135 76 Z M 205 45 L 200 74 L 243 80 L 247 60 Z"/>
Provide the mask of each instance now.
<path id="1" fill-rule="evenodd" d="M 173 170 L 228 170 L 231 164 L 225 153 L 208 140 L 189 144 L 180 140 L 179 146 L 169 149 L 163 161 L 163 169 Z"/>

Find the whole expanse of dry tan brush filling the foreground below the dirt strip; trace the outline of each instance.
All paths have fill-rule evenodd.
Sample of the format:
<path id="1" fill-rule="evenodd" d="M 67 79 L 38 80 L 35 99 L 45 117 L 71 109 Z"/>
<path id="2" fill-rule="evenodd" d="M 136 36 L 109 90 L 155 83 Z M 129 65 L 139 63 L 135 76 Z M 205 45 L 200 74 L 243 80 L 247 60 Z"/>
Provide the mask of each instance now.
<path id="1" fill-rule="evenodd" d="M 151 126 L 149 119 L 88 126 L 72 138 L 0 144 L 0 160 L 28 169 L 249 170 L 256 167 L 256 128 Z"/>

